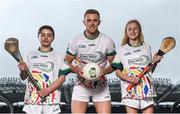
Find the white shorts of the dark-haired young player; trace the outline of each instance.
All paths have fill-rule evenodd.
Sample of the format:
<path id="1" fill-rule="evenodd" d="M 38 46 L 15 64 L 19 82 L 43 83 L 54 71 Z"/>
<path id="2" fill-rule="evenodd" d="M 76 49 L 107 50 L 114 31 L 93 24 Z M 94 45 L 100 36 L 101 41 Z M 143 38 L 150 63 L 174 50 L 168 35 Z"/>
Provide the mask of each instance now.
<path id="1" fill-rule="evenodd" d="M 59 104 L 56 105 L 24 105 L 23 111 L 27 114 L 59 114 Z"/>

